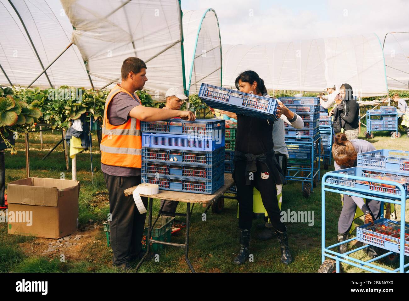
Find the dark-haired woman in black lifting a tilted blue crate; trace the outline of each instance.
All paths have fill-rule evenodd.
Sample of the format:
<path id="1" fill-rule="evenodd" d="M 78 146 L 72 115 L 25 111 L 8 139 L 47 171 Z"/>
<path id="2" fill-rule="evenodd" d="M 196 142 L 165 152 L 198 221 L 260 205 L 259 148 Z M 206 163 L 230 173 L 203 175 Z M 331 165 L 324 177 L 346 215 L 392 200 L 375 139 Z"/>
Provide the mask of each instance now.
<path id="1" fill-rule="evenodd" d="M 240 92 L 259 96 L 267 92 L 264 81 L 254 71 L 241 73 L 236 78 L 236 88 Z M 278 115 L 282 113 L 279 108 L 277 111 Z M 253 220 L 253 187 L 256 187 L 261 193 L 263 205 L 279 239 L 281 262 L 288 265 L 292 257 L 288 246 L 287 228 L 280 220 L 281 211 L 276 191 L 276 184 L 285 183 L 285 177 L 274 153 L 273 122 L 226 111 L 220 113 L 237 119 L 232 177 L 236 181 L 239 206 L 240 252 L 234 259 L 234 263 L 242 264 L 249 258 L 250 229 Z M 287 114 L 290 122 L 300 118 L 290 111 Z"/>

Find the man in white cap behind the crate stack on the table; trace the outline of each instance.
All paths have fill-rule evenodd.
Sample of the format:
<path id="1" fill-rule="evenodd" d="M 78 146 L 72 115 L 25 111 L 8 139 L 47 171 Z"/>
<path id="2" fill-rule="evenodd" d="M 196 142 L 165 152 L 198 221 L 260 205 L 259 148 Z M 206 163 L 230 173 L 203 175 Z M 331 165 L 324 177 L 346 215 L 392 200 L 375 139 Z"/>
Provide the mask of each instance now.
<path id="1" fill-rule="evenodd" d="M 182 107 L 183 103 L 189 99 L 189 97 L 186 97 L 182 90 L 179 88 L 170 88 L 169 90 L 166 91 L 166 105 L 163 107 L 164 110 L 180 110 Z M 162 210 L 166 211 L 167 213 L 164 213 L 164 216 L 174 216 L 176 212 L 176 208 L 178 207 L 179 202 L 178 201 L 171 201 L 171 200 L 160 200 L 160 205 L 162 207 Z M 173 226 L 175 227 L 184 227 L 186 224 L 184 222 L 176 221 L 173 222 Z"/>

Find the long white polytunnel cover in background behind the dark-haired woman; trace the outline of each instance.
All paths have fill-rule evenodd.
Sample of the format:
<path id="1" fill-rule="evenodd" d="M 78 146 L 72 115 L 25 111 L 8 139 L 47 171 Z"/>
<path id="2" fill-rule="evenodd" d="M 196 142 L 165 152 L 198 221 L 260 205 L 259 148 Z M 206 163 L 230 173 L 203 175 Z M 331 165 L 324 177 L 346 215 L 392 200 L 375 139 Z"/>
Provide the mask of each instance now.
<path id="1" fill-rule="evenodd" d="M 266 45 L 223 45 L 223 85 L 254 70 L 267 89 L 322 91 L 349 83 L 357 96 L 387 94 L 378 36 L 354 35 Z"/>

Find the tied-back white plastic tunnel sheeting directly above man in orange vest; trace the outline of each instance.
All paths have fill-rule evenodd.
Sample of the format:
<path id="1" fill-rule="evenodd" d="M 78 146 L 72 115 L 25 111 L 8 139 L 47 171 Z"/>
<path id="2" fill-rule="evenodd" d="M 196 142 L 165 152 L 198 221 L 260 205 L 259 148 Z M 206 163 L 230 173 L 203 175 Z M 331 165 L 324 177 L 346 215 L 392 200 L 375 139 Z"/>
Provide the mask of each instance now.
<path id="1" fill-rule="evenodd" d="M 184 88 L 182 22 L 177 0 L 61 0 L 75 28 L 72 41 L 92 76 L 121 81 L 125 58 L 147 65 L 144 89 L 164 97 L 170 87 Z"/>

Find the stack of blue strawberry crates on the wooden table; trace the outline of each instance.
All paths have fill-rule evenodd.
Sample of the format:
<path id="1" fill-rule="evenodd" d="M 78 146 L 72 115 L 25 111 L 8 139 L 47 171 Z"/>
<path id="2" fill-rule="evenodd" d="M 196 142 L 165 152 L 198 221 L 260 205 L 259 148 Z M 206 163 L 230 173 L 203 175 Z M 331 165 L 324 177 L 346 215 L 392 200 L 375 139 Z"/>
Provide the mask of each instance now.
<path id="1" fill-rule="evenodd" d="M 159 189 L 211 194 L 224 184 L 225 120 L 146 121 L 142 177 Z"/>

